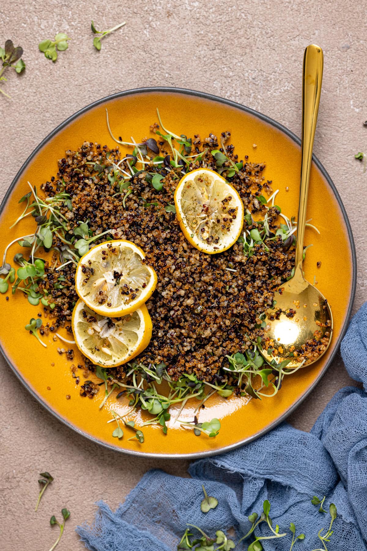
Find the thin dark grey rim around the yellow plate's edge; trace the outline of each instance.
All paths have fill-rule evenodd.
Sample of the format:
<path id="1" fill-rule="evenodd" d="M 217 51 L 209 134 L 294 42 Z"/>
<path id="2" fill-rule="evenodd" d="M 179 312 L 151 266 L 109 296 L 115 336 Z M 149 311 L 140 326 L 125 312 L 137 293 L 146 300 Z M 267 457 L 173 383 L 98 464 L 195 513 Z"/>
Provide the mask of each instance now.
<path id="1" fill-rule="evenodd" d="M 185 94 L 185 95 L 189 95 L 189 96 L 196 96 L 197 98 L 204 98 L 204 99 L 208 99 L 208 100 L 211 100 L 211 101 L 216 101 L 216 102 L 219 102 L 219 103 L 224 104 L 224 105 L 229 105 L 231 107 L 236 107 L 237 109 L 240 109 L 241 111 L 245 111 L 245 112 L 249 113 L 250 115 L 253 115 L 253 116 L 259 118 L 261 121 L 264 121 L 264 122 L 268 123 L 269 125 L 277 128 L 278 130 L 280 130 L 281 132 L 286 134 L 286 136 L 291 138 L 298 145 L 300 145 L 300 143 L 301 143 L 300 139 L 297 136 L 295 136 L 295 134 L 293 132 L 288 130 L 288 128 L 281 125 L 279 122 L 274 121 L 272 118 L 267 117 L 266 115 L 262 115 L 258 111 L 255 111 L 254 109 L 250 109 L 250 107 L 246 107 L 246 106 L 241 105 L 241 104 L 239 104 L 235 101 L 220 98 L 220 97 L 212 95 L 212 94 L 206 94 L 204 92 L 199 92 L 199 91 L 195 91 L 195 90 L 188 90 L 188 89 L 185 89 L 185 88 L 173 88 L 173 87 L 149 87 L 149 88 L 134 88 L 132 90 L 125 90 L 123 92 L 117 92 L 116 94 L 111 94 L 109 96 L 106 96 L 105 98 L 94 101 L 93 103 L 87 105 L 86 107 L 83 107 L 83 109 L 80 109 L 79 111 L 74 113 L 74 115 L 67 118 L 64 122 L 62 122 L 60 125 L 58 125 L 52 132 L 50 132 L 50 134 L 48 134 L 48 136 L 46 136 L 46 138 L 42 140 L 42 142 L 30 154 L 28 159 L 25 161 L 25 163 L 19 169 L 18 174 L 15 176 L 14 180 L 12 181 L 12 183 L 11 183 L 8 191 L 6 192 L 6 195 L 4 196 L 3 201 L 0 205 L 0 214 L 3 212 L 4 207 L 6 207 L 6 203 L 8 201 L 10 193 L 13 191 L 13 188 L 15 187 L 15 185 L 17 185 L 21 174 L 25 170 L 25 168 L 28 165 L 28 163 L 30 162 L 30 160 L 32 158 L 34 158 L 34 156 L 40 151 L 40 149 L 42 149 L 43 145 L 45 145 L 48 141 L 50 141 L 50 139 L 53 138 L 62 128 L 67 126 L 76 117 L 79 117 L 80 115 L 83 115 L 85 112 L 89 111 L 90 109 L 93 109 L 97 105 L 103 104 L 103 102 L 113 100 L 113 99 L 116 99 L 116 98 L 123 98 L 124 96 L 129 96 L 129 95 L 133 95 L 133 94 L 146 94 L 146 93 L 151 93 L 151 92 L 154 92 L 154 93 L 168 93 L 168 94 Z M 339 196 L 339 193 L 338 193 L 333 181 L 331 180 L 330 176 L 327 174 L 324 166 L 322 166 L 319 159 L 317 159 L 315 155 L 313 155 L 313 161 L 314 161 L 315 165 L 317 166 L 317 168 L 320 170 L 322 176 L 327 181 L 328 185 L 331 187 L 331 189 L 332 189 L 332 191 L 333 191 L 333 193 L 334 193 L 334 195 L 335 195 L 335 197 L 338 201 L 338 204 L 339 204 L 339 207 L 342 211 L 342 214 L 343 214 L 344 223 L 346 224 L 346 228 L 347 228 L 347 231 L 348 231 L 350 252 L 352 253 L 352 260 L 353 260 L 352 291 L 350 293 L 348 311 L 347 311 L 347 315 L 346 315 L 346 320 L 344 321 L 344 324 L 343 324 L 343 327 L 342 327 L 341 334 L 340 334 L 337 342 L 333 343 L 332 353 L 331 353 L 330 357 L 328 358 L 324 369 L 320 372 L 317 379 L 314 380 L 314 382 L 310 385 L 308 390 L 306 390 L 306 392 L 303 394 L 303 396 L 300 397 L 298 399 L 298 401 L 296 403 L 294 403 L 293 406 L 290 407 L 285 413 L 283 413 L 283 415 L 281 415 L 281 417 L 276 419 L 275 422 L 273 422 L 270 425 L 266 426 L 266 428 L 260 430 L 258 433 L 254 434 L 253 436 L 250 436 L 250 437 L 248 437 L 244 440 L 241 440 L 240 442 L 235 442 L 235 444 L 231 444 L 229 446 L 224 446 L 224 447 L 222 447 L 221 449 L 218 449 L 218 450 L 207 450 L 207 451 L 202 451 L 202 452 L 199 452 L 199 453 L 177 453 L 177 454 L 173 454 L 173 453 L 149 453 L 149 452 L 145 453 L 143 451 L 125 450 L 125 449 L 122 449 L 118 446 L 113 446 L 111 444 L 108 444 L 107 442 L 104 442 L 102 440 L 98 440 L 96 437 L 85 433 L 84 431 L 78 429 L 78 427 L 74 426 L 72 423 L 69 423 L 67 419 L 64 419 L 63 417 L 61 417 L 61 415 L 59 415 L 50 406 L 48 406 L 45 402 L 43 402 L 42 398 L 39 395 L 37 395 L 37 393 L 34 390 L 32 390 L 32 388 L 30 388 L 28 383 L 23 379 L 23 377 L 21 376 L 21 374 L 19 373 L 19 371 L 17 370 L 15 365 L 13 365 L 12 361 L 10 361 L 10 359 L 7 357 L 5 351 L 0 346 L 0 351 L 3 354 L 4 358 L 6 359 L 7 363 L 9 364 L 10 368 L 12 368 L 15 375 L 23 383 L 23 385 L 31 393 L 31 395 L 34 398 L 36 398 L 36 400 L 40 404 L 42 404 L 42 406 L 45 409 L 47 409 L 48 412 L 50 412 L 52 415 L 54 415 L 54 417 L 56 417 L 59 421 L 61 421 L 65 425 L 67 425 L 70 429 L 73 429 L 76 433 L 79 433 L 80 435 L 85 436 L 87 439 L 91 440 L 92 442 L 96 442 L 97 444 L 100 444 L 100 445 L 108 448 L 109 450 L 118 451 L 118 452 L 122 452 L 122 453 L 127 453 L 128 455 L 134 455 L 134 456 L 140 456 L 140 457 L 157 457 L 157 458 L 159 457 L 159 458 L 165 458 L 165 459 L 169 459 L 169 458 L 171 458 L 171 459 L 179 459 L 179 458 L 195 459 L 195 458 L 199 458 L 199 457 L 214 456 L 214 455 L 219 455 L 220 453 L 224 453 L 224 452 L 227 452 L 227 451 L 234 450 L 234 449 L 236 449 L 240 446 L 243 446 L 244 444 L 248 444 L 248 442 L 256 440 L 257 438 L 259 438 L 259 436 L 262 436 L 263 434 L 266 434 L 267 432 L 269 432 L 269 430 L 275 428 L 275 426 L 277 426 L 282 421 L 284 421 L 288 417 L 288 415 L 290 415 L 299 406 L 299 404 L 304 401 L 304 399 L 309 395 L 311 390 L 313 390 L 313 388 L 321 380 L 322 376 L 325 375 L 325 372 L 326 372 L 328 366 L 331 364 L 334 356 L 336 355 L 336 353 L 338 351 L 338 348 L 339 348 L 339 344 L 341 343 L 342 338 L 343 338 L 344 334 L 347 331 L 349 317 L 350 317 L 350 314 L 352 313 L 352 307 L 353 307 L 353 301 L 354 301 L 354 295 L 355 295 L 355 287 L 356 287 L 356 282 L 357 282 L 357 257 L 355 255 L 355 246 L 354 246 L 352 228 L 350 228 L 350 224 L 349 224 L 348 216 L 347 216 L 347 213 L 346 213 L 346 209 L 344 208 L 342 200 Z"/>

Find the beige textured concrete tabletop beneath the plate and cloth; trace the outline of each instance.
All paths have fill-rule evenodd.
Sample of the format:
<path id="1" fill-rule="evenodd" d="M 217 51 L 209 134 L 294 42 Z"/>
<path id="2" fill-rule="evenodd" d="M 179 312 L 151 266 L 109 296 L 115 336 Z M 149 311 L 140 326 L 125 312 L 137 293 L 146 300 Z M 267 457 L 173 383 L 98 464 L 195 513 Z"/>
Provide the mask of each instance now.
<path id="1" fill-rule="evenodd" d="M 101 52 L 92 46 L 90 20 L 108 29 Z M 366 298 L 367 172 L 353 158 L 367 150 L 365 3 L 345 0 L 151 0 L 64 2 L 4 0 L 0 41 L 24 48 L 26 71 L 9 75 L 0 98 L 0 191 L 58 123 L 91 101 L 140 86 L 169 85 L 211 92 L 253 107 L 300 133 L 304 47 L 325 53 L 315 153 L 330 173 L 352 224 L 358 257 L 354 311 Z M 65 31 L 69 50 L 52 64 L 40 40 Z M 337 282 L 336 282 L 337 284 Z M 72 515 L 59 551 L 81 549 L 77 523 L 92 520 L 94 502 L 115 507 L 141 475 L 162 467 L 184 476 L 187 461 L 136 459 L 107 451 L 57 422 L 30 397 L 7 365 L 0 370 L 0 548 L 42 551 L 56 539 L 51 514 Z M 350 381 L 337 358 L 319 386 L 291 417 L 309 430 L 338 388 Z M 55 480 L 37 514 L 37 473 Z"/>

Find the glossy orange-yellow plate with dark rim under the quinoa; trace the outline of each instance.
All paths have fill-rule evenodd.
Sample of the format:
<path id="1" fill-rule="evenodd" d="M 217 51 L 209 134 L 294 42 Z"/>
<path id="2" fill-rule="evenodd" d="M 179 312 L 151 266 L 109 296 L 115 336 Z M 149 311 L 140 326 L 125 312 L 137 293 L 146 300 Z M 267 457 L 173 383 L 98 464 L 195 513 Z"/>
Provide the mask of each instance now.
<path id="1" fill-rule="evenodd" d="M 25 235 L 30 229 L 34 231 L 31 217 L 25 218 L 15 229 L 9 229 L 24 208 L 18 200 L 29 191 L 27 181 L 38 187 L 50 180 L 57 173 L 57 160 L 64 156 L 65 149 L 77 149 L 85 140 L 115 145 L 106 127 L 106 107 L 114 135 L 125 139 L 133 135 L 138 142 L 144 137 L 153 137 L 149 126 L 157 121 L 156 107 L 160 109 L 165 126 L 177 133 L 187 136 L 199 133 L 201 138 L 205 138 L 209 132 L 219 136 L 223 131 L 231 131 L 231 143 L 235 145 L 239 158 L 248 155 L 251 162 L 264 161 L 265 178 L 272 180 L 274 190 L 280 190 L 276 203 L 288 216 L 297 215 L 300 147 L 298 139 L 286 128 L 247 107 L 210 95 L 168 88 L 130 90 L 85 107 L 56 128 L 32 153 L 15 177 L 1 206 L 2 251 L 18 234 Z M 285 191 L 287 186 L 288 192 Z M 107 424 L 111 419 L 111 409 L 124 414 L 128 409 L 127 400 L 117 399 L 114 392 L 105 407 L 98 409 L 103 399 L 102 391 L 94 399 L 79 396 L 84 377 L 78 370 L 78 386 L 70 370 L 70 365 L 82 362 L 78 349 L 73 347 L 72 361 L 65 354 L 58 354 L 57 348 L 67 348 L 68 345 L 59 340 L 54 342 L 52 333 L 43 338 L 47 348 L 41 347 L 24 326 L 31 317 L 37 317 L 42 307 L 31 306 L 18 292 L 8 301 L 6 295 L 0 295 L 3 354 L 15 374 L 43 406 L 70 428 L 111 449 L 158 457 L 202 457 L 253 440 L 284 420 L 321 379 L 337 351 L 352 309 L 356 272 L 353 237 L 335 186 L 316 159 L 311 169 L 308 218 L 313 219 L 321 235 L 306 229 L 305 243 L 314 246 L 307 251 L 305 275 L 311 282 L 316 276 L 317 286 L 332 307 L 335 330 L 331 346 L 319 362 L 286 377 L 281 391 L 274 398 L 264 398 L 261 402 L 251 400 L 248 405 L 245 405 L 245 398 L 211 398 L 206 402 L 206 408 L 200 411 L 199 420 L 221 419 L 222 428 L 215 438 L 194 436 L 193 431 L 180 427 L 178 423 L 173 424 L 176 417 L 173 408 L 167 435 L 163 435 L 160 427 L 149 426 L 144 428 L 143 444 L 136 439 L 128 441 L 129 429 L 125 429 L 123 439 L 113 438 L 116 423 Z M 9 258 L 18 251 L 17 244 L 12 246 Z M 317 261 L 322 262 L 320 268 L 316 267 Z M 94 376 L 90 378 L 96 380 Z M 67 395 L 70 399 L 66 398 Z M 180 418 L 192 420 L 197 404 L 196 400 L 188 403 Z M 149 417 L 145 412 L 136 413 L 136 425 Z"/>

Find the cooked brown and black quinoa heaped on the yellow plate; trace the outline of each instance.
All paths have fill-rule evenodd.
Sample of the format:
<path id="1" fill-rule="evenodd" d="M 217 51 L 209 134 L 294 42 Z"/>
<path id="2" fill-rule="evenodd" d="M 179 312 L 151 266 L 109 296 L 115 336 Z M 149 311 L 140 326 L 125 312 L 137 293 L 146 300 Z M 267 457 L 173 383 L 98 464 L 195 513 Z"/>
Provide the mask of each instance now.
<path id="1" fill-rule="evenodd" d="M 224 153 L 237 163 L 233 145 L 225 145 L 229 136 L 229 132 L 223 132 L 220 150 L 224 148 Z M 169 153 L 165 150 L 166 142 L 158 145 L 161 155 Z M 195 136 L 193 147 L 197 153 L 206 152 L 188 170 L 200 166 L 216 170 L 210 150 L 218 148 L 217 137 L 210 134 L 201 141 L 200 136 Z M 120 193 L 119 187 L 108 179 L 108 167 L 119 159 L 118 147 L 108 149 L 85 142 L 77 151 L 65 152 L 65 157 L 58 161 L 57 177 L 41 188 L 46 196 L 62 190 L 70 195 L 73 208 L 65 205 L 60 210 L 69 220 L 70 233 L 80 221 L 86 220 L 94 235 L 111 229 L 113 239 L 127 239 L 140 246 L 146 253 L 146 262 L 155 268 L 158 283 L 147 302 L 153 323 L 152 338 L 136 361 L 145 365 L 164 362 L 173 379 L 183 372 L 194 372 L 200 380 L 218 380 L 220 369 L 228 364 L 227 354 L 244 352 L 251 346 L 250 341 L 264 336 L 259 316 L 272 305 L 273 291 L 291 275 L 294 250 L 284 248 L 278 236 L 278 240 L 266 242 L 269 252 L 264 245 L 255 245 L 250 257 L 245 255 L 241 242 L 217 255 L 198 251 L 185 239 L 176 214 L 170 208 L 167 212 L 167 207 L 174 203 L 173 193 L 182 167 L 167 172 L 165 168 L 149 166 L 150 172 L 165 175 L 162 191 L 155 190 L 146 181 L 146 172 L 139 171 L 130 183 L 131 189 Z M 96 170 L 95 163 L 102 169 Z M 128 170 L 126 161 L 120 166 Z M 255 219 L 256 215 L 260 219 L 265 214 L 258 197 L 263 190 L 272 192 L 271 181 L 263 176 L 264 169 L 264 164 L 251 164 L 246 156 L 243 169 L 228 179 Z M 279 210 L 272 207 L 267 212 L 269 229 L 275 233 L 280 224 Z M 255 227 L 256 222 L 246 225 L 247 229 Z M 101 237 L 103 240 L 105 236 Z M 54 236 L 53 246 L 62 250 L 64 243 Z M 70 263 L 55 272 L 56 255 L 53 260 L 54 264 L 46 264 L 47 280 L 40 286 L 56 305 L 50 312 L 53 326 L 63 326 L 71 333 L 72 310 L 78 299 L 75 267 Z M 65 278 L 63 286 L 58 284 L 60 274 Z M 121 366 L 114 376 L 120 378 L 124 374 Z M 88 395 L 89 390 L 84 388 Z"/>

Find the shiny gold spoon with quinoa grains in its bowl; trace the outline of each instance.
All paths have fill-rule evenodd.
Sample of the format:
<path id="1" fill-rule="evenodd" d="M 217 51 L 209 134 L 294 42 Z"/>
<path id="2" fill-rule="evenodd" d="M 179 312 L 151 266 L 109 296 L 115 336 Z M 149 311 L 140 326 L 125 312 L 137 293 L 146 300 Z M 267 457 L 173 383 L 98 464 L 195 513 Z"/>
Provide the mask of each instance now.
<path id="1" fill-rule="evenodd" d="M 307 46 L 303 58 L 302 163 L 294 276 L 278 288 L 274 296 L 276 304 L 267 310 L 265 318 L 267 329 L 262 355 L 277 363 L 291 358 L 287 368 L 297 368 L 304 361 L 300 353 L 303 345 L 309 349 L 304 365 L 314 363 L 325 354 L 332 336 L 330 306 L 324 295 L 306 281 L 302 271 L 308 185 L 323 67 L 320 46 Z"/>

